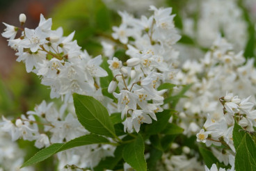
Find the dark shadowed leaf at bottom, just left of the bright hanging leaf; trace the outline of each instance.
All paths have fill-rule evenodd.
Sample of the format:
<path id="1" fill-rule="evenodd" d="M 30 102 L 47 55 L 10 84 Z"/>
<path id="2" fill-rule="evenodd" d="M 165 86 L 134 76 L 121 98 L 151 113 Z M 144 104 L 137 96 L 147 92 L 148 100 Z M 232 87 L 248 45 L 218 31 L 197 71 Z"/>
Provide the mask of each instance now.
<path id="1" fill-rule="evenodd" d="M 113 170 L 115 168 L 115 165 L 118 164 L 118 162 L 122 159 L 122 150 L 123 146 L 120 145 L 116 147 L 115 152 L 114 152 L 114 157 L 109 156 L 104 158 L 102 161 L 99 162 L 99 164 L 93 168 L 95 171 L 103 171 L 103 170 Z"/>

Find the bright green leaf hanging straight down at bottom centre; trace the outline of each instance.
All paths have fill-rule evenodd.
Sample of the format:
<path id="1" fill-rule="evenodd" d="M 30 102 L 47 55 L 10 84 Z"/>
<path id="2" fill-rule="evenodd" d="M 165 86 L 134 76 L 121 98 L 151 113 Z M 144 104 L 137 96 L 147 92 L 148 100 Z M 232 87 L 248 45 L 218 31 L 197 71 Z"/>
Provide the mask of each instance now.
<path id="1" fill-rule="evenodd" d="M 122 152 L 124 160 L 136 171 L 147 170 L 144 149 L 144 140 L 141 134 L 138 134 L 137 138 L 133 142 L 127 144 Z"/>

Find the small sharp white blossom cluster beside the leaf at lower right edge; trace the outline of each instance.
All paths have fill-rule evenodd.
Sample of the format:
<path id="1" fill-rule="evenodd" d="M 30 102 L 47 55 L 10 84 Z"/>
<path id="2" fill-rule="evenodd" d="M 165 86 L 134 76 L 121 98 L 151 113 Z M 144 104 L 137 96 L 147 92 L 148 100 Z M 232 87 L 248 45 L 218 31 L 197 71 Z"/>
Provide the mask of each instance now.
<path id="1" fill-rule="evenodd" d="M 203 129 L 196 134 L 198 142 L 204 142 L 207 147 L 210 145 L 225 145 L 226 149 L 219 149 L 212 147 L 211 151 L 218 161 L 225 165 L 230 164 L 231 170 L 234 170 L 234 142 L 232 133 L 234 129 L 234 122 L 237 122 L 243 129 L 240 131 L 254 131 L 253 127 L 256 125 L 256 111 L 255 104 L 249 101 L 250 97 L 246 99 L 239 99 L 232 93 L 226 93 L 225 97 L 221 97 L 220 101 L 223 105 L 223 117 L 220 120 L 214 120 L 209 114 L 207 120 L 203 125 Z"/>

